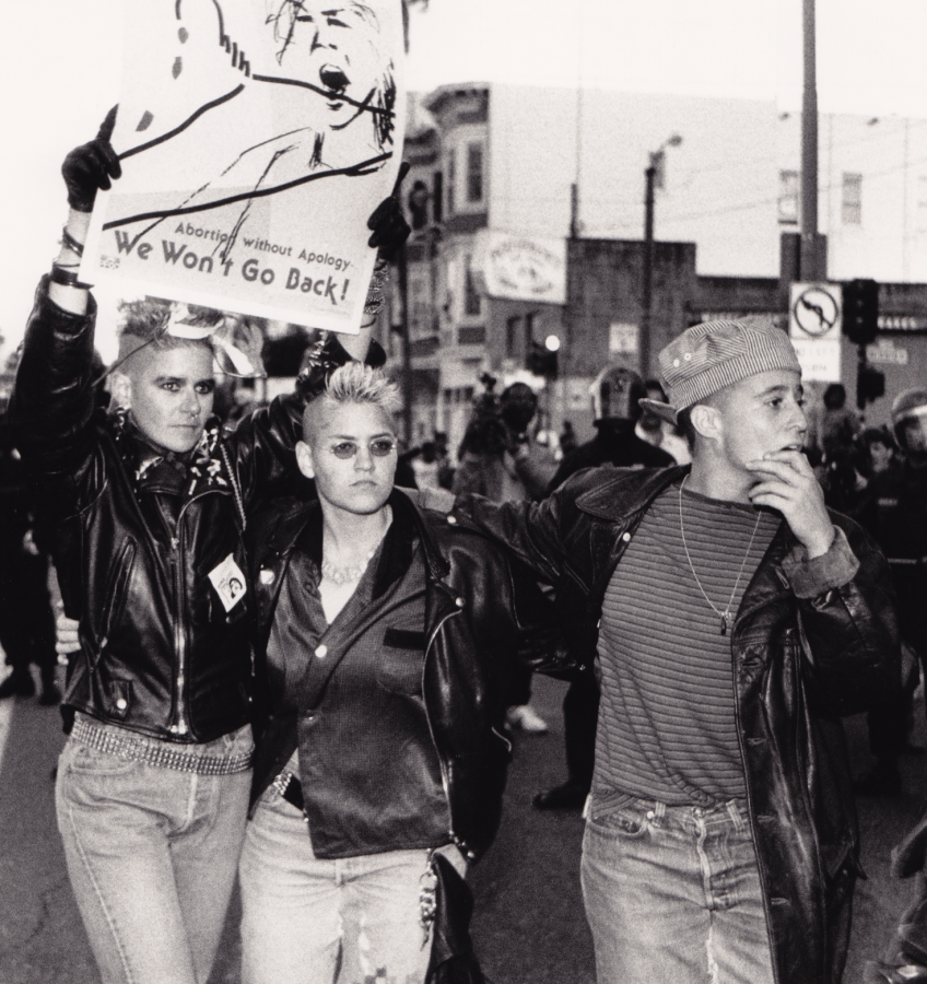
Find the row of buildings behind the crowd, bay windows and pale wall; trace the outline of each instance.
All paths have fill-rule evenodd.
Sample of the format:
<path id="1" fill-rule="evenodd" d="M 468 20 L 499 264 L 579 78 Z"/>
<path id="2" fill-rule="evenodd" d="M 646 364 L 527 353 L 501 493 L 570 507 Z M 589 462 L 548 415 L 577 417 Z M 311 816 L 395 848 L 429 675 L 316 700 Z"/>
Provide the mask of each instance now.
<path id="1" fill-rule="evenodd" d="M 885 374 L 885 396 L 867 408 L 878 425 L 896 393 L 927 378 L 927 120 L 823 115 L 819 131 L 829 279 L 881 284 L 869 361 Z M 582 438 L 589 385 L 605 365 L 656 375 L 660 348 L 705 317 L 762 315 L 787 327 L 798 114 L 747 101 L 451 85 L 416 99 L 404 156 L 413 235 L 391 319 L 407 335 L 390 332 L 387 348 L 411 374 L 413 442 L 444 431 L 454 449 L 484 373 L 500 388 L 532 382 L 547 426 L 570 420 Z M 650 163 L 656 242 L 642 365 Z M 500 236 L 517 239 L 502 274 Z M 555 380 L 529 373 L 532 350 L 550 339 Z M 850 396 L 856 361 L 844 344 Z"/>

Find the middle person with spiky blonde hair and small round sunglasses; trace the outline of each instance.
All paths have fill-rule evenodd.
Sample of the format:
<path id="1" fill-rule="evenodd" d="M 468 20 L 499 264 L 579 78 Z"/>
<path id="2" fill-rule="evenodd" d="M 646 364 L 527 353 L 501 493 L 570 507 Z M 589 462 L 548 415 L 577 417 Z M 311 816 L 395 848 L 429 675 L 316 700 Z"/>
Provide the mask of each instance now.
<path id="1" fill-rule="evenodd" d="M 248 530 L 266 690 L 242 977 L 476 984 L 462 876 L 500 822 L 506 683 L 548 606 L 484 538 L 394 487 L 398 390 L 380 370 L 308 375 L 312 484 Z M 555 661 L 541 639 L 526 658 Z"/>

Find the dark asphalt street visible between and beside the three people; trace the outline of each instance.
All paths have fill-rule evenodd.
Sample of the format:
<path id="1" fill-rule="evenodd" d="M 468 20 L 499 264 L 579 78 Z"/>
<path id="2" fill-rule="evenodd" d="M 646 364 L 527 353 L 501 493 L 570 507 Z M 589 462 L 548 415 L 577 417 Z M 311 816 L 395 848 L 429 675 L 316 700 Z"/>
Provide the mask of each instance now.
<path id="1" fill-rule="evenodd" d="M 583 916 L 579 850 L 583 821 L 541 812 L 531 797 L 563 778 L 560 702 L 564 684 L 538 679 L 535 704 L 551 725 L 545 736 L 518 736 L 495 844 L 472 872 L 473 937 L 492 984 L 594 984 L 591 940 Z M 918 743 L 927 743 L 924 708 Z M 64 738 L 56 708 L 35 700 L 0 702 L 0 984 L 98 984 L 74 905 L 55 824 L 51 771 Z M 870 764 L 865 721 L 847 722 L 857 772 Z M 879 953 L 911 891 L 889 874 L 892 846 L 916 819 L 927 793 L 927 755 L 902 762 L 905 795 L 860 799 L 864 867 L 854 911 L 844 984 L 863 984 L 863 967 Z M 237 904 L 210 984 L 237 984 Z M 281 982 L 285 984 L 285 982 Z"/>

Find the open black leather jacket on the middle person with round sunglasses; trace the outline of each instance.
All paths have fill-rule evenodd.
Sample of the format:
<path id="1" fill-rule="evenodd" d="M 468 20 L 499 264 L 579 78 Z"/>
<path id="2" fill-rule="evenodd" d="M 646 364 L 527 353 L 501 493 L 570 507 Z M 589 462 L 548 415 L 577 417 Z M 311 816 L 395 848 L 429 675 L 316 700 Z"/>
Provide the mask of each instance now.
<path id="1" fill-rule="evenodd" d="M 411 514 L 424 555 L 422 689 L 447 798 L 448 841 L 476 860 L 492 843 L 502 816 L 511 753 L 502 731 L 503 681 L 516 655 L 536 669 L 559 666 L 560 651 L 550 645 L 556 637 L 552 607 L 530 577 L 513 577 L 505 555 L 483 536 L 457 528 L 443 513 L 418 508 L 399 489 L 390 502 L 394 512 Z M 318 508 L 312 493 L 281 500 L 257 515 L 248 530 L 259 653 L 267 646 L 296 540 Z M 285 738 L 295 725 L 282 718 L 309 708 L 265 710 L 256 724 L 256 795 L 290 758 L 292 743 Z"/>

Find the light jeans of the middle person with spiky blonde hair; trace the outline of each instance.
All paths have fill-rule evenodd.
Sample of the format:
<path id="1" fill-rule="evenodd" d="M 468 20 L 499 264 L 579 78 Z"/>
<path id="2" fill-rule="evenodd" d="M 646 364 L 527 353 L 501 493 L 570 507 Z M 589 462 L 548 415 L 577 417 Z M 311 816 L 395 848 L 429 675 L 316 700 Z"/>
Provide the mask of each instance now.
<path id="1" fill-rule="evenodd" d="M 462 874 L 460 852 L 442 852 Z M 242 851 L 243 984 L 421 984 L 426 864 L 424 850 L 317 858 L 302 811 L 271 786 Z"/>

